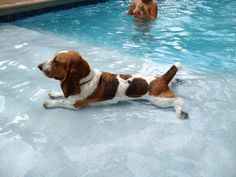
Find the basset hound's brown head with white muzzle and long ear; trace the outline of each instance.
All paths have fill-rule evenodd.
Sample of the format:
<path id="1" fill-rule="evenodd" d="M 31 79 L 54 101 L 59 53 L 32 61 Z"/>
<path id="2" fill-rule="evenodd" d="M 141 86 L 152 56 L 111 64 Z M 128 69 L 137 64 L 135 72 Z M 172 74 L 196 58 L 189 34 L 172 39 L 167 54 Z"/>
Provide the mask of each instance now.
<path id="1" fill-rule="evenodd" d="M 59 52 L 51 61 L 38 65 L 49 78 L 61 81 L 64 96 L 80 93 L 80 80 L 90 73 L 88 63 L 75 51 Z"/>

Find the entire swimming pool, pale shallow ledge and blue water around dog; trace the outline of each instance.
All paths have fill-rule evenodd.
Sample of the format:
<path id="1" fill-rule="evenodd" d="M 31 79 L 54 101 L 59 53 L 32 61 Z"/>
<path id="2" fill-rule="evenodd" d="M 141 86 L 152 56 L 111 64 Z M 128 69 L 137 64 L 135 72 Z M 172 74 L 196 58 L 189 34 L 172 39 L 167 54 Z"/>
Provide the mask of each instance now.
<path id="1" fill-rule="evenodd" d="M 0 176 L 236 176 L 236 3 L 163 0 L 154 22 L 126 16 L 127 5 L 0 25 Z M 174 89 L 190 119 L 144 101 L 45 110 L 59 84 L 37 65 L 66 49 L 114 73 L 156 75 L 180 61 L 185 83 Z"/>

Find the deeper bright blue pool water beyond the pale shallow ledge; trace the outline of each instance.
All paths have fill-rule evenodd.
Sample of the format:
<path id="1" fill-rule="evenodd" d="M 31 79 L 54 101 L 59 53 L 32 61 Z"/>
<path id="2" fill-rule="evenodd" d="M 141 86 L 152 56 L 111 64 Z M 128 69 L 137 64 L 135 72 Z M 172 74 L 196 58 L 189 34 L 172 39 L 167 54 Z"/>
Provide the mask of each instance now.
<path id="1" fill-rule="evenodd" d="M 108 50 L 191 68 L 234 73 L 235 1 L 160 1 L 158 20 L 126 15 L 129 1 L 108 1 L 17 21 Z"/>

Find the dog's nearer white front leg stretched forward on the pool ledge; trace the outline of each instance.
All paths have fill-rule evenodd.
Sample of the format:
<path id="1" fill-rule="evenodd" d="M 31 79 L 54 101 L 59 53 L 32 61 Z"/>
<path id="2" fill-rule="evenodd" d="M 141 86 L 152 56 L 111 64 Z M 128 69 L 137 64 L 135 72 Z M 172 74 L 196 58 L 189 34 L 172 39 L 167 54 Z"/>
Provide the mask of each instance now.
<path id="1" fill-rule="evenodd" d="M 74 106 L 75 101 L 71 98 L 63 98 L 56 100 L 47 100 L 43 103 L 45 108 L 68 108 L 68 109 L 78 109 Z"/>

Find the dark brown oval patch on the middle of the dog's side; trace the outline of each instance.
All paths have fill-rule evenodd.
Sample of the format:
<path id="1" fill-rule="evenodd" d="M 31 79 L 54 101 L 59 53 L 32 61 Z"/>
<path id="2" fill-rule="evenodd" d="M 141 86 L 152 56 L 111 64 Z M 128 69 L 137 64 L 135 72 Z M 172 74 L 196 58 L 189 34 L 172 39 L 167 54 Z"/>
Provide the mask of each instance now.
<path id="1" fill-rule="evenodd" d="M 133 81 L 128 81 L 128 83 L 130 86 L 125 92 L 128 97 L 140 97 L 146 94 L 149 89 L 147 81 L 142 78 L 135 78 Z"/>

